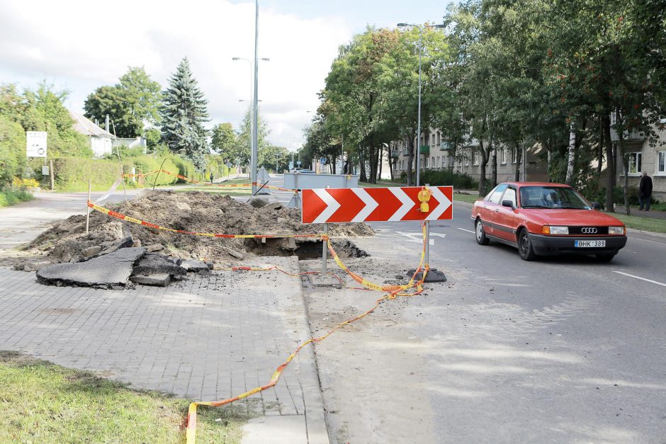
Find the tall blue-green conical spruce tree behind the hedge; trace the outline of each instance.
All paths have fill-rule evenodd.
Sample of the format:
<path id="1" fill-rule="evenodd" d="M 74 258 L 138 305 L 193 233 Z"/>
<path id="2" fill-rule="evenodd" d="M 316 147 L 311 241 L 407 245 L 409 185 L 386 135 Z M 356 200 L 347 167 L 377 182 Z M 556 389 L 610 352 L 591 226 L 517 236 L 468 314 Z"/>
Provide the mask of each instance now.
<path id="1" fill-rule="evenodd" d="M 205 169 L 208 149 L 208 130 L 203 127 L 208 118 L 208 101 L 192 76 L 190 64 L 184 57 L 176 73 L 169 79 L 169 88 L 162 98 L 162 138 L 173 152 L 184 149 L 198 171 Z"/>

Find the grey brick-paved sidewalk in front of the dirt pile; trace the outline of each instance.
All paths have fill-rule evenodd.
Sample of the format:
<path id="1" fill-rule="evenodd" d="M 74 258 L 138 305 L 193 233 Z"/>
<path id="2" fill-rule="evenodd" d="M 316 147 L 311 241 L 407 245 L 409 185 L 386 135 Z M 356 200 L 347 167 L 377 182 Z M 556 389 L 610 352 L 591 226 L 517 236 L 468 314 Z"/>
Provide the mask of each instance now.
<path id="1" fill-rule="evenodd" d="M 249 265 L 298 272 L 296 258 L 262 259 Z M 216 272 L 168 288 L 113 291 L 44 286 L 34 273 L 0 268 L 0 350 L 106 372 L 137 388 L 226 399 L 269 382 L 309 334 L 300 279 L 278 272 Z M 284 417 L 289 440 L 296 427 L 307 433 L 299 442 L 328 442 L 311 348 L 276 387 L 239 405 Z M 259 423 L 276 425 L 267 420 Z"/>

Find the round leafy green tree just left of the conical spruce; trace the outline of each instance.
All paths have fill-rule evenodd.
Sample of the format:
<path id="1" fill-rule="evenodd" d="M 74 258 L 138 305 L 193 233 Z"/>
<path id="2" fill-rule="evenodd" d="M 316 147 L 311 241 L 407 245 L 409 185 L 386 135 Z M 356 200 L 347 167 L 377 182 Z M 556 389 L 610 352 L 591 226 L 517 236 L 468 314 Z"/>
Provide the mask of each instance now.
<path id="1" fill-rule="evenodd" d="M 145 125 L 157 124 L 160 95 L 159 84 L 143 67 L 130 67 L 118 84 L 100 86 L 86 98 L 85 115 L 100 123 L 108 115 L 116 136 L 137 137 Z"/>

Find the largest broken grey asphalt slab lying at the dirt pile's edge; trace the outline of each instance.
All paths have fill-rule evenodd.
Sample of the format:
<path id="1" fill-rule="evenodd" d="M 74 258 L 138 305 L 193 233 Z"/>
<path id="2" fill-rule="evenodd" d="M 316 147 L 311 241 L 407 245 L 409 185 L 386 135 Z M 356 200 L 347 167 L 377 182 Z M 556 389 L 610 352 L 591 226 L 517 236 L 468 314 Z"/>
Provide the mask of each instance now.
<path id="1" fill-rule="evenodd" d="M 145 253 L 144 247 L 130 247 L 86 262 L 56 263 L 41 268 L 37 280 L 45 285 L 123 290 L 134 271 L 135 262 Z"/>

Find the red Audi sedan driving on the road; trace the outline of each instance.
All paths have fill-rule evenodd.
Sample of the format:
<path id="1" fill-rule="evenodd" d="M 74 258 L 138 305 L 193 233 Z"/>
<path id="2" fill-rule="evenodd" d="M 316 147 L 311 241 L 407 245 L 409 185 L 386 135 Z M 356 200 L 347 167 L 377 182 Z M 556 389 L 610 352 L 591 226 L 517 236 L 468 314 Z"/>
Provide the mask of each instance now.
<path id="1" fill-rule="evenodd" d="M 610 261 L 626 244 L 626 227 L 596 211 L 576 190 L 561 183 L 500 183 L 472 207 L 476 241 L 518 248 L 520 258 L 594 254 Z"/>

